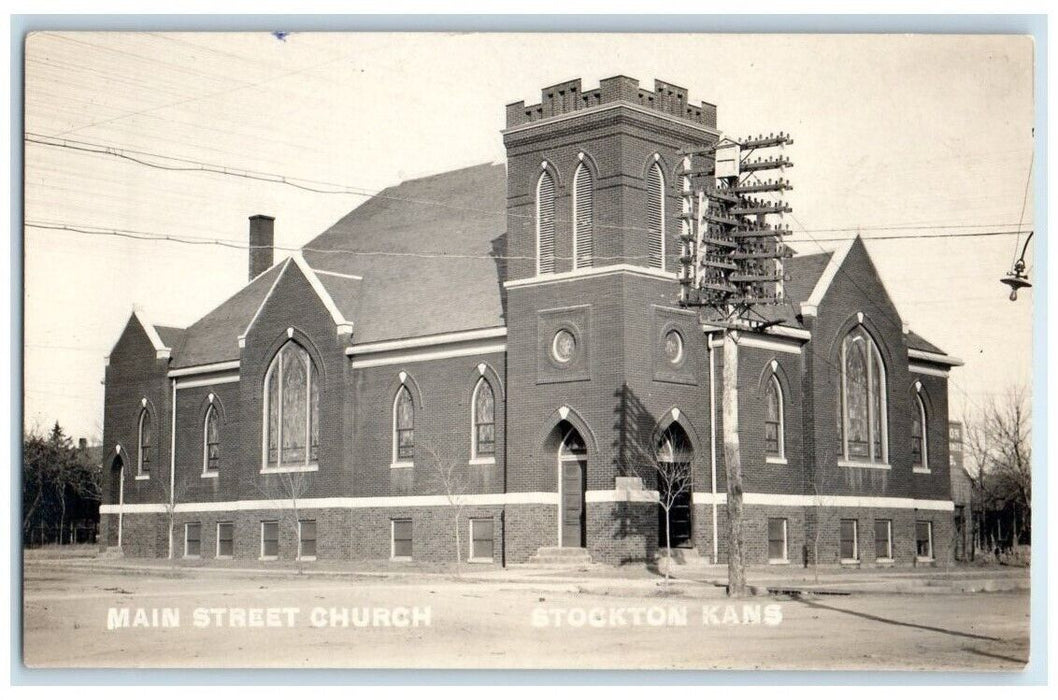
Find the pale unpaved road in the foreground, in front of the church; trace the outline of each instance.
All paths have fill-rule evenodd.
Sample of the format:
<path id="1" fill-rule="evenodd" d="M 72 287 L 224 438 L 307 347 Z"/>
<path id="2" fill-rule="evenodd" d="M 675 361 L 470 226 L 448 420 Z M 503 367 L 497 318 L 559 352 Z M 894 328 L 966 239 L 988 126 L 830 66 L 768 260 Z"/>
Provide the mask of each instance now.
<path id="1" fill-rule="evenodd" d="M 715 592 L 678 585 L 662 596 L 642 585 L 131 575 L 61 563 L 28 563 L 24 582 L 30 667 L 1013 670 L 1028 659 L 1026 591 L 756 597 L 729 611 Z M 168 608 L 159 625 L 179 615 L 179 626 L 108 629 L 108 616 L 120 625 L 128 610 L 132 625 L 141 608 L 141 622 Z M 232 609 L 235 623 L 263 624 L 266 608 L 280 609 L 280 626 L 229 626 Z M 331 626 L 331 608 L 339 625 L 350 609 L 350 626 Z M 365 608 L 378 626 L 352 626 Z"/>

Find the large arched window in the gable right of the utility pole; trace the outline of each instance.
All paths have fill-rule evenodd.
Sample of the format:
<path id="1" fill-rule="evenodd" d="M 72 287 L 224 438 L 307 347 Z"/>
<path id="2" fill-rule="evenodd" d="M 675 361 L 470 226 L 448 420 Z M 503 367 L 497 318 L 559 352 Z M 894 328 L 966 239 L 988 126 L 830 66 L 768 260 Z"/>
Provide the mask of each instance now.
<path id="1" fill-rule="evenodd" d="M 846 460 L 889 463 L 886 366 L 862 327 L 841 344 L 841 436 Z"/>

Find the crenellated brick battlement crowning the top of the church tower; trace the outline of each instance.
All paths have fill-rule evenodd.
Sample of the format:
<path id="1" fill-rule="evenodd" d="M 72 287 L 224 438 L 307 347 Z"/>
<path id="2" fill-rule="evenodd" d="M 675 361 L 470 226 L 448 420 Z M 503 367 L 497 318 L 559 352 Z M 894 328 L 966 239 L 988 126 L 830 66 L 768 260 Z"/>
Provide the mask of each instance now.
<path id="1" fill-rule="evenodd" d="M 687 92 L 686 88 L 663 80 L 655 80 L 652 92 L 640 88 L 639 80 L 625 75 L 604 78 L 595 90 L 584 91 L 581 79 L 577 78 L 541 90 L 539 105 L 526 106 L 525 102 L 508 105 L 507 128 L 618 102 L 716 128 L 716 106 L 706 102 L 692 105 Z"/>

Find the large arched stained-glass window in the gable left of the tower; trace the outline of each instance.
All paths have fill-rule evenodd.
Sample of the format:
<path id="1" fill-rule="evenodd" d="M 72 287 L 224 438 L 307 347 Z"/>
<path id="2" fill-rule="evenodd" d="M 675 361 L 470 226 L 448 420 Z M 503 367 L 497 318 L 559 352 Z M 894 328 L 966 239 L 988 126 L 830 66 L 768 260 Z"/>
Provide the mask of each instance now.
<path id="1" fill-rule="evenodd" d="M 309 468 L 316 463 L 320 381 L 312 357 L 293 340 L 279 349 L 264 376 L 264 416 L 268 468 Z"/>

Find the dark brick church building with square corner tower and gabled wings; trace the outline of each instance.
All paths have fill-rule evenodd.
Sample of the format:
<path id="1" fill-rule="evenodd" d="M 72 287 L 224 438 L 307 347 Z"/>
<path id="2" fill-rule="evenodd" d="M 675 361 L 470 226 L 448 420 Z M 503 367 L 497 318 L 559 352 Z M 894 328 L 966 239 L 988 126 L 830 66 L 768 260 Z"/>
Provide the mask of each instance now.
<path id="1" fill-rule="evenodd" d="M 689 471 L 674 545 L 724 561 L 718 329 L 676 302 L 680 149 L 716 108 L 618 76 L 507 107 L 507 164 L 388 188 L 187 328 L 108 358 L 105 545 L 130 556 L 596 561 L 663 546 L 644 454 Z M 378 253 L 385 255 L 378 255 Z M 751 564 L 951 555 L 949 370 L 859 239 L 799 255 L 740 338 Z M 690 553 L 688 554 L 690 555 Z"/>

